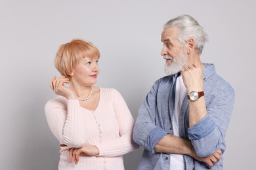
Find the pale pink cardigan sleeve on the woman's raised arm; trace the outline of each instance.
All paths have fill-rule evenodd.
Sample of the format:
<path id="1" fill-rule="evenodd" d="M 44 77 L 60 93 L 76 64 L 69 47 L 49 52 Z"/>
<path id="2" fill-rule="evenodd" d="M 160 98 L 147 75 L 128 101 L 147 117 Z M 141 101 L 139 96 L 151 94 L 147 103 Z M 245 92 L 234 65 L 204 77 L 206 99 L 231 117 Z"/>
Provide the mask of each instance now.
<path id="1" fill-rule="evenodd" d="M 83 119 L 79 110 L 77 99 L 66 100 L 56 97 L 45 105 L 45 116 L 53 135 L 60 143 L 75 148 L 85 144 Z"/>

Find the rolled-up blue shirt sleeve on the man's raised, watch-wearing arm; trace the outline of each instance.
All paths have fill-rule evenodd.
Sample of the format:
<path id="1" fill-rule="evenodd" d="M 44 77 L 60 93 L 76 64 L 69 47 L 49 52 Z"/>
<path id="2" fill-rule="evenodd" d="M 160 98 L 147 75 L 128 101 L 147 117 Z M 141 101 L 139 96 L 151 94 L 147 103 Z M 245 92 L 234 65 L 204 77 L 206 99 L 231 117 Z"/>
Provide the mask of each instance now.
<path id="1" fill-rule="evenodd" d="M 198 124 L 188 128 L 188 137 L 200 157 L 209 156 L 223 146 L 230 122 L 234 89 L 226 84 L 219 86 L 225 88 L 216 90 L 214 97 L 209 99 L 211 103 L 207 103 L 207 115 Z"/>

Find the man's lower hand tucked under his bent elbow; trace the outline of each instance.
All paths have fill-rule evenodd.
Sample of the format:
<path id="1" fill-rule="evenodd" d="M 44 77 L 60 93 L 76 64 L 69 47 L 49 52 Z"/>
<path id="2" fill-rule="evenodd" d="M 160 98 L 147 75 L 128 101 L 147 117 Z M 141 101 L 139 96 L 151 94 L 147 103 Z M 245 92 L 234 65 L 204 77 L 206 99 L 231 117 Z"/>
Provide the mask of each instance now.
<path id="1" fill-rule="evenodd" d="M 210 169 L 211 167 L 213 167 L 213 165 L 215 163 L 217 163 L 219 160 L 221 160 L 221 150 L 219 149 L 212 155 L 207 156 L 205 158 L 198 157 L 196 154 L 193 156 L 193 158 L 198 161 L 203 161 L 203 162 L 207 163 L 208 168 Z"/>

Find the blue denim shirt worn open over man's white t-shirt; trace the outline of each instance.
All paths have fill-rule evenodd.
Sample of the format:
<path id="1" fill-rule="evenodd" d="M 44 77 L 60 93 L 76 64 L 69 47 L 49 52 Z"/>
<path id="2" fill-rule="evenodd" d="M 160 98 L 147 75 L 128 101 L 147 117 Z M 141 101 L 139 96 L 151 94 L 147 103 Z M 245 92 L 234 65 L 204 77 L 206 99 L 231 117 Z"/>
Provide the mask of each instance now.
<path id="1" fill-rule="evenodd" d="M 224 138 L 234 106 L 234 89 L 215 73 L 213 64 L 203 65 L 203 91 L 207 116 L 198 124 L 189 127 L 188 98 L 185 97 L 179 116 L 179 134 L 180 137 L 192 142 L 200 157 L 209 156 L 221 148 L 221 160 L 211 169 L 223 169 L 223 153 L 226 149 Z M 133 131 L 134 141 L 144 148 L 139 170 L 170 169 L 169 154 L 154 152 L 154 146 L 167 133 L 173 135 L 171 118 L 175 97 L 172 92 L 176 76 L 177 74 L 169 75 L 156 80 L 139 109 Z M 207 169 L 205 163 L 190 156 L 184 155 L 184 160 L 186 170 Z"/>

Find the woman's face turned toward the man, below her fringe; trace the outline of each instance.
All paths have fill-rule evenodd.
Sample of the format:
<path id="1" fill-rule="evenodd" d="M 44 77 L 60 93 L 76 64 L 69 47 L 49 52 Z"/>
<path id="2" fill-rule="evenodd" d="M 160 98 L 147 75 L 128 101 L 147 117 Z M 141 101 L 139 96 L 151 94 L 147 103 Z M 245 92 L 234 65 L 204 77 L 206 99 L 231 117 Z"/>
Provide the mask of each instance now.
<path id="1" fill-rule="evenodd" d="M 91 86 L 96 84 L 99 72 L 98 59 L 84 58 L 73 69 L 72 81 L 81 86 Z"/>

